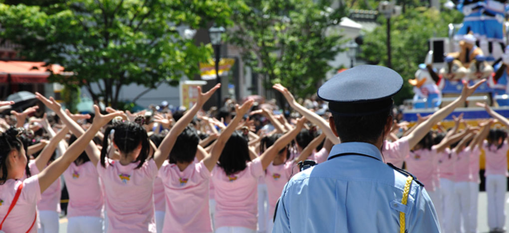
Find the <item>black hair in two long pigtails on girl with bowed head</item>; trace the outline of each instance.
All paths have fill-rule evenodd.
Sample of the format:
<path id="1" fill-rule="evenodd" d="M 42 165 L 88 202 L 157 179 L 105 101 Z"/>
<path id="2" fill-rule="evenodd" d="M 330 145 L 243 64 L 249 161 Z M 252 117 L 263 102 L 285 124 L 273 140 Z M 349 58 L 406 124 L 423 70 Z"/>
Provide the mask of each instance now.
<path id="1" fill-rule="evenodd" d="M 106 128 L 104 132 L 104 140 L 102 142 L 102 150 L 101 150 L 101 165 L 102 167 L 106 166 L 106 155 L 108 154 L 108 143 L 109 136 L 113 136 L 113 142 L 117 145 L 121 153 L 128 154 L 134 151 L 138 145 L 142 144 L 142 150 L 139 152 L 139 155 L 134 160 L 135 162 L 139 161 L 139 164 L 135 169 L 139 169 L 143 166 L 143 163 L 149 157 L 149 137 L 147 135 L 147 131 L 145 128 L 139 123 L 143 123 L 136 117 L 134 122 L 124 121 L 122 119 L 115 118 L 112 121 L 112 124 Z M 110 148 L 111 149 L 111 148 Z"/>

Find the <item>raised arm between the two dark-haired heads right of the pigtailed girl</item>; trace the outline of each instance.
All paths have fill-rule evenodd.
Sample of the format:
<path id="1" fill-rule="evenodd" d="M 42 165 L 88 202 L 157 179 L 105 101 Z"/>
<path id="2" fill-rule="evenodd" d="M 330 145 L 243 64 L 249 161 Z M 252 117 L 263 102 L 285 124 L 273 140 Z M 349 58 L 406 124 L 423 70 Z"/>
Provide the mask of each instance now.
<path id="1" fill-rule="evenodd" d="M 253 100 L 249 99 L 246 101 L 242 106 L 239 107 L 239 105 L 235 106 L 235 112 L 237 113 L 233 120 L 228 124 L 226 128 L 224 128 L 219 135 L 219 138 L 214 142 L 214 147 L 212 148 L 212 151 L 210 152 L 209 156 L 205 157 L 203 159 L 203 162 L 205 163 L 205 167 L 209 171 L 212 171 L 214 166 L 217 163 L 217 160 L 221 156 L 222 150 L 224 149 L 224 145 L 228 142 L 228 139 L 230 139 L 230 136 L 232 136 L 233 132 L 235 131 L 235 128 L 237 128 L 237 125 L 239 124 L 240 120 L 242 120 L 242 117 L 244 114 L 249 111 L 251 106 L 253 105 Z"/>

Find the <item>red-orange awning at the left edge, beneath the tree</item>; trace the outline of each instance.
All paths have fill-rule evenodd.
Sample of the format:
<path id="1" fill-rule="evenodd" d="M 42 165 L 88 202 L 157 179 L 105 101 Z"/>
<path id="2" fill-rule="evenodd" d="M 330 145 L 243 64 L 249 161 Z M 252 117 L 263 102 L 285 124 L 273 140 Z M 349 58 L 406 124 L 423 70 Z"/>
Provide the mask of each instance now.
<path id="1" fill-rule="evenodd" d="M 51 75 L 44 62 L 33 61 L 0 61 L 0 82 L 8 82 L 8 75 L 12 83 L 46 83 Z M 60 65 L 50 65 L 55 74 L 64 71 Z"/>

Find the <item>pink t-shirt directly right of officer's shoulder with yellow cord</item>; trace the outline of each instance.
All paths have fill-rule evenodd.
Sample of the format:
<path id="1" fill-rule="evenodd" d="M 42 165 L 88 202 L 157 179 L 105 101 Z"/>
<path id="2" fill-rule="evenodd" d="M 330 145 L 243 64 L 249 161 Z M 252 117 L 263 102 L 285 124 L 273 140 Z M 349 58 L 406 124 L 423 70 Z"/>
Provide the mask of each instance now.
<path id="1" fill-rule="evenodd" d="M 437 150 L 433 146 L 431 150 L 419 149 L 410 152 L 410 156 L 405 159 L 407 171 L 413 174 L 424 184 L 426 190 L 435 191 L 435 179 L 433 174 L 437 165 Z"/>

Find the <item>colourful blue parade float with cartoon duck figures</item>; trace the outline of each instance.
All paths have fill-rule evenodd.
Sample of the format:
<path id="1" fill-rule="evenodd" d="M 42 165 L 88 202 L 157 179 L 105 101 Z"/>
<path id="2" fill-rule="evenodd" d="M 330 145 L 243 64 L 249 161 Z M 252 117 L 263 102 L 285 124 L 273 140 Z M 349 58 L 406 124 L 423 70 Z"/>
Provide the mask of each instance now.
<path id="1" fill-rule="evenodd" d="M 426 116 L 454 101 L 463 83 L 487 82 L 467 98 L 465 106 L 453 115 L 464 119 L 490 116 L 476 103 L 487 103 L 499 114 L 509 117 L 509 22 L 505 1 L 462 1 L 457 6 L 465 15 L 463 23 L 449 24 L 447 38 L 431 38 L 425 61 L 416 68 L 414 97 L 405 101 L 403 119 L 416 121 L 417 114 Z M 468 3 L 468 4 L 467 4 Z"/>

